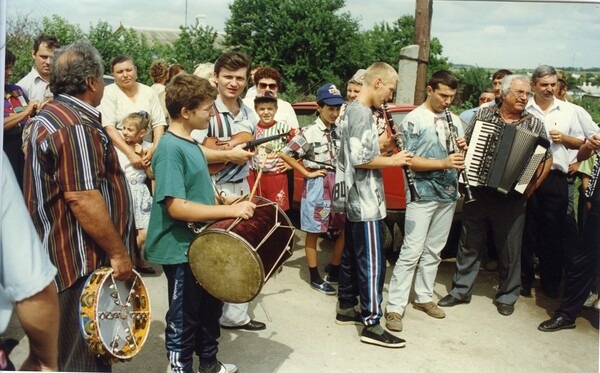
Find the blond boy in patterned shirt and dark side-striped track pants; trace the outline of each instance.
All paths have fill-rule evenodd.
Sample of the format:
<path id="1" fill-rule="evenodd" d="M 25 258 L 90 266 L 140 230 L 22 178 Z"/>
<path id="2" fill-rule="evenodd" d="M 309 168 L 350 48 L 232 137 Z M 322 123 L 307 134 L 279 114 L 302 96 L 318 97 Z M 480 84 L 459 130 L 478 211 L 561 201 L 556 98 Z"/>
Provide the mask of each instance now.
<path id="1" fill-rule="evenodd" d="M 334 188 L 336 211 L 346 212 L 346 242 L 342 255 L 336 323 L 364 324 L 360 340 L 384 347 L 404 347 L 405 341 L 385 331 L 379 321 L 385 255 L 386 217 L 382 167 L 410 164 L 407 151 L 380 155 L 379 135 L 372 108 L 392 98 L 398 74 L 377 62 L 365 74 L 362 90 L 340 124 L 340 152 Z M 354 306 L 360 296 L 360 314 Z"/>

